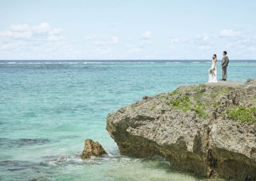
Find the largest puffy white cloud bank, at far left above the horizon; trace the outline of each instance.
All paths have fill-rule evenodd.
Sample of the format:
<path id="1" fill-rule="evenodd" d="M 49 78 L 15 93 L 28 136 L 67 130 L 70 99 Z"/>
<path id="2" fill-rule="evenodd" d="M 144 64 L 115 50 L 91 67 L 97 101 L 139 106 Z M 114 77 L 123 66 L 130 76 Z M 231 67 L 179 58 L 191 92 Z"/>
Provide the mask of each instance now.
<path id="1" fill-rule="evenodd" d="M 0 31 L 0 55 L 19 59 L 22 58 L 20 55 L 34 55 L 33 59 L 36 59 L 44 56 L 38 52 L 68 52 L 70 47 L 61 31 L 62 29 L 52 28 L 48 23 L 11 25 L 10 30 Z"/>

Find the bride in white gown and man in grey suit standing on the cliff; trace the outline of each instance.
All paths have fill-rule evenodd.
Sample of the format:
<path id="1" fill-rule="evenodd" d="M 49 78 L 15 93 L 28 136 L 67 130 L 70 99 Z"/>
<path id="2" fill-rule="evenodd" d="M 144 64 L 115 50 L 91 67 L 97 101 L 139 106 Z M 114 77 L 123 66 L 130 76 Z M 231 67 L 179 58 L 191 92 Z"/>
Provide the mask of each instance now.
<path id="1" fill-rule="evenodd" d="M 216 62 L 217 62 L 217 55 L 214 54 L 213 57 L 212 57 L 212 66 L 209 69 L 209 80 L 208 80 L 209 83 L 218 82 Z M 222 58 L 222 61 L 221 61 L 221 66 L 222 66 L 222 79 L 221 80 L 224 80 L 224 81 L 227 80 L 228 62 L 229 62 L 229 60 L 228 60 L 228 57 L 227 57 L 227 52 L 224 51 L 223 52 L 223 58 Z"/>

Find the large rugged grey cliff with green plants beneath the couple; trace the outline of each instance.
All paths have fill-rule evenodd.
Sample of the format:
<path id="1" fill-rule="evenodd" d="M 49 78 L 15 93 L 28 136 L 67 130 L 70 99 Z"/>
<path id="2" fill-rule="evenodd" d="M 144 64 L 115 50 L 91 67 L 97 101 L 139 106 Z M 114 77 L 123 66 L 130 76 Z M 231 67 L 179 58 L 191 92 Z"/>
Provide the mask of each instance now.
<path id="1" fill-rule="evenodd" d="M 245 84 L 188 85 L 144 96 L 109 113 L 106 129 L 125 156 L 158 155 L 202 177 L 255 180 L 256 83 Z"/>

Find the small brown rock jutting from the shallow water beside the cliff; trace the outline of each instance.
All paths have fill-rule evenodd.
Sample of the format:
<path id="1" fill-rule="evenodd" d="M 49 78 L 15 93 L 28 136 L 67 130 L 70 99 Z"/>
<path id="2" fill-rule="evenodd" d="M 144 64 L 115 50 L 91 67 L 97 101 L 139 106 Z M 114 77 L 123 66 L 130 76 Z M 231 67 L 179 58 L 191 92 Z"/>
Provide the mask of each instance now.
<path id="1" fill-rule="evenodd" d="M 99 157 L 106 156 L 107 153 L 102 148 L 102 145 L 98 141 L 93 141 L 91 139 L 87 139 L 84 141 L 84 150 L 83 154 L 79 155 L 81 158 L 89 158 L 89 157 Z"/>

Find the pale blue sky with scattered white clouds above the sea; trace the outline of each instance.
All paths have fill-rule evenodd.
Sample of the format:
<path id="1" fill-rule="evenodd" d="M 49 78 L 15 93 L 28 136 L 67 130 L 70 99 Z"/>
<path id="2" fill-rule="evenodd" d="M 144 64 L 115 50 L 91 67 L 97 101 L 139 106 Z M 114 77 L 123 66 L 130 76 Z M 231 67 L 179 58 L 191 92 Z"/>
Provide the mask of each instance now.
<path id="1" fill-rule="evenodd" d="M 255 0 L 0 0 L 0 60 L 256 59 Z"/>

